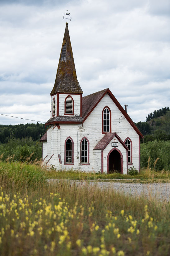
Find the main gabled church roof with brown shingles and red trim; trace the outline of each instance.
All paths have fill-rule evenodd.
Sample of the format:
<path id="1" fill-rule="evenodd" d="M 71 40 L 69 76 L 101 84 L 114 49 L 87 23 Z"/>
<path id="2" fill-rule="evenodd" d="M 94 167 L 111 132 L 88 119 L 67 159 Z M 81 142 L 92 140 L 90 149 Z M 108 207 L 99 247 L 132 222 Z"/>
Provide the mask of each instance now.
<path id="1" fill-rule="evenodd" d="M 82 97 L 82 117 L 83 117 L 83 122 L 90 115 L 90 113 L 94 110 L 94 108 L 98 105 L 98 103 L 101 101 L 101 99 L 104 97 L 104 95 L 106 93 L 108 93 L 110 98 L 113 100 L 113 102 L 118 107 L 118 109 L 122 112 L 123 116 L 126 117 L 126 120 L 130 123 L 130 125 L 137 132 L 137 134 L 139 134 L 141 138 L 144 138 L 143 134 L 140 132 L 140 130 L 137 128 L 137 126 L 131 120 L 130 116 L 126 113 L 124 108 L 120 105 L 120 103 L 117 101 L 115 96 L 112 94 L 112 92 L 108 88 L 104 89 L 102 91 L 98 91 L 98 92 L 92 93 L 92 94 L 87 95 L 85 97 Z"/>

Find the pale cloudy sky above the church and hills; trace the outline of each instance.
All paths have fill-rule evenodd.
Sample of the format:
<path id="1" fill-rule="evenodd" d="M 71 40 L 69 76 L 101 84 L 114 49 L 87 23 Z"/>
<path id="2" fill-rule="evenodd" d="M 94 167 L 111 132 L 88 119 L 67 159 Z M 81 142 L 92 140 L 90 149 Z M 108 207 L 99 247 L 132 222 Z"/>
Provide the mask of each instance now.
<path id="1" fill-rule="evenodd" d="M 169 0 L 0 0 L 0 114 L 50 118 L 67 10 L 83 96 L 109 88 L 135 122 L 170 107 Z"/>

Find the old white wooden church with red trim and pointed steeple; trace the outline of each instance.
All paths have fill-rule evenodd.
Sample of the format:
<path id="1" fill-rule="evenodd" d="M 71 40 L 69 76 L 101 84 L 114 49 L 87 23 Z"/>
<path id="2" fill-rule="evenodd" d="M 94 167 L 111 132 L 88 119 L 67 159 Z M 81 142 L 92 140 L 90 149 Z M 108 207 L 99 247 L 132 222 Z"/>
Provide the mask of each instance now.
<path id="1" fill-rule="evenodd" d="M 57 75 L 51 91 L 51 117 L 43 143 L 44 164 L 57 170 L 76 169 L 126 174 L 140 171 L 143 135 L 107 88 L 82 97 L 76 76 L 68 23 Z M 126 108 L 126 107 L 125 107 Z"/>

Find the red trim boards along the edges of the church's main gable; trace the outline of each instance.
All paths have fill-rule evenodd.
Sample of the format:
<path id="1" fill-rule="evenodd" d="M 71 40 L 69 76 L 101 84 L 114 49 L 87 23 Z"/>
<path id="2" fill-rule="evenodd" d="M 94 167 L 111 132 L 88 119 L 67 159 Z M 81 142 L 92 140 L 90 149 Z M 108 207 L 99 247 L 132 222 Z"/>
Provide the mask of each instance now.
<path id="1" fill-rule="evenodd" d="M 137 126 L 134 124 L 134 122 L 131 120 L 130 116 L 126 113 L 126 111 L 123 109 L 123 107 L 120 105 L 120 103 L 117 101 L 117 99 L 115 98 L 115 96 L 112 94 L 112 92 L 107 89 L 107 91 L 105 91 L 103 93 L 103 95 L 101 96 L 101 98 L 99 99 L 99 101 L 94 105 L 94 107 L 91 109 L 91 111 L 83 118 L 83 123 L 84 121 L 87 119 L 87 117 L 90 115 L 90 113 L 94 110 L 94 108 L 99 104 L 99 102 L 101 101 L 101 99 L 104 97 L 104 95 L 108 93 L 108 95 L 110 96 L 110 98 L 113 100 L 113 102 L 116 104 L 116 106 L 118 107 L 118 109 L 122 112 L 122 114 L 126 117 L 126 120 L 130 123 L 130 125 L 133 127 L 133 129 L 137 132 L 138 135 L 140 135 L 141 138 L 144 138 L 144 135 L 140 132 L 140 130 L 138 130 Z"/>

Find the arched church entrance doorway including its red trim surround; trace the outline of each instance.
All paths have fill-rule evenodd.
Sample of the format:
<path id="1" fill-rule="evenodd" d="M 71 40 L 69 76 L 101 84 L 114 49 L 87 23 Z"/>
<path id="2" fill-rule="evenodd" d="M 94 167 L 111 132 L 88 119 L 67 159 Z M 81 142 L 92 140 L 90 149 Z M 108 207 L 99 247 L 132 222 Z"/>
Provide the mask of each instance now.
<path id="1" fill-rule="evenodd" d="M 110 150 L 107 157 L 107 172 L 117 171 L 123 173 L 123 156 L 120 150 L 114 148 Z"/>

